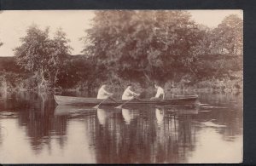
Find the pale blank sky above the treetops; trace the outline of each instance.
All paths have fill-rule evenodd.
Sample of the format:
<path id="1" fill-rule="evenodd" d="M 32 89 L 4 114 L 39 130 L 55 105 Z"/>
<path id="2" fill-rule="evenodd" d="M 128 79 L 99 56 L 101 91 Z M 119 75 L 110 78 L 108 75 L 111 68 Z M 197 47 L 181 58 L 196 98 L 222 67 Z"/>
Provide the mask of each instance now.
<path id="1" fill-rule="evenodd" d="M 216 27 L 230 14 L 237 14 L 243 18 L 242 10 L 188 10 L 191 19 L 196 23 L 209 27 Z M 53 33 L 61 27 L 70 39 L 73 47 L 72 54 L 81 54 L 83 43 L 79 40 L 84 37 L 85 29 L 90 28 L 93 10 L 8 10 L 0 12 L 0 56 L 13 56 L 13 49 L 20 46 L 20 37 L 26 36 L 26 29 L 32 24 L 44 29 L 50 26 Z M 51 34 L 50 34 L 51 35 Z"/>

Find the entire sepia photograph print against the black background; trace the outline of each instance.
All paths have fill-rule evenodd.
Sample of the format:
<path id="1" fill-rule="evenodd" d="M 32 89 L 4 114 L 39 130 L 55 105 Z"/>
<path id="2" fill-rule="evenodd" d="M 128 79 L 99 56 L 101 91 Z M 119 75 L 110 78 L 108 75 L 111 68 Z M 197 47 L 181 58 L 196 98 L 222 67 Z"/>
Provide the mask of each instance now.
<path id="1" fill-rule="evenodd" d="M 243 10 L 0 22 L 0 163 L 243 162 Z"/>

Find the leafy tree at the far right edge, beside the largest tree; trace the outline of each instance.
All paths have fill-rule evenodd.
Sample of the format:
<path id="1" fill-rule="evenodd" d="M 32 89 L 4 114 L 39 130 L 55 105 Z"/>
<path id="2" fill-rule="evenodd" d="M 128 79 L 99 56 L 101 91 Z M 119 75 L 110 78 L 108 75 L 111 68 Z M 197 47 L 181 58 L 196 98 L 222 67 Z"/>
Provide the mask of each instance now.
<path id="1" fill-rule="evenodd" d="M 235 14 L 224 18 L 217 28 L 201 26 L 203 33 L 196 51 L 201 54 L 194 66 L 196 77 L 225 77 L 242 70 L 242 20 Z"/>

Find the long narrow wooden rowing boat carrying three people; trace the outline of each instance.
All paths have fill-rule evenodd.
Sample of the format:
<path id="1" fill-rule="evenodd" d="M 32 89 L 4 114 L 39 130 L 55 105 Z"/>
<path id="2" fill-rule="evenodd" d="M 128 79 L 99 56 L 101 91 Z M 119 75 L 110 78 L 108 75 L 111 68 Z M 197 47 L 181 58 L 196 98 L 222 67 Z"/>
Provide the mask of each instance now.
<path id="1" fill-rule="evenodd" d="M 69 106 L 96 106 L 100 104 L 103 100 L 96 98 L 86 98 L 86 97 L 73 97 L 73 96 L 63 96 L 54 95 L 55 102 L 58 105 L 69 105 Z M 142 100 L 134 99 L 127 103 L 128 105 L 154 105 L 154 106 L 169 106 L 169 105 L 195 105 L 198 95 L 179 95 L 172 99 L 166 100 Z M 102 102 L 101 106 L 119 106 L 124 104 L 127 100 L 105 100 Z"/>

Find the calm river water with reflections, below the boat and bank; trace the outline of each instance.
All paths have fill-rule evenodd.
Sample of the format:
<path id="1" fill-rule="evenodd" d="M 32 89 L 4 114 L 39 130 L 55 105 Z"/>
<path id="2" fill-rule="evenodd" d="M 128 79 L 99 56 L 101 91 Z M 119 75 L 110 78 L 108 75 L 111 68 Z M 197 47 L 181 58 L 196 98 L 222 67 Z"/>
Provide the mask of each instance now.
<path id="1" fill-rule="evenodd" d="M 197 108 L 56 106 L 50 94 L 1 94 L 0 163 L 237 163 L 241 95 Z"/>

